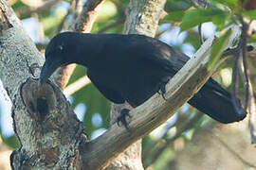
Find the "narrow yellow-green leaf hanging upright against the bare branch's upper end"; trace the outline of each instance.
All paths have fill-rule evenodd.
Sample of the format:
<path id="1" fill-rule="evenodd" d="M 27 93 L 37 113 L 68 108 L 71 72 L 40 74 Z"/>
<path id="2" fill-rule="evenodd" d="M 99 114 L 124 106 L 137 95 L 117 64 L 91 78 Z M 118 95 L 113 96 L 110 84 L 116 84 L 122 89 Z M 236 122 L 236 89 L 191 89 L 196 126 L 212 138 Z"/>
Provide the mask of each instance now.
<path id="1" fill-rule="evenodd" d="M 229 42 L 229 36 L 231 34 L 231 30 L 229 29 L 222 37 L 220 37 L 214 44 L 210 50 L 210 59 L 208 62 L 208 70 L 210 71 L 215 65 L 216 61 L 220 59 L 223 51 L 226 48 L 226 45 Z"/>

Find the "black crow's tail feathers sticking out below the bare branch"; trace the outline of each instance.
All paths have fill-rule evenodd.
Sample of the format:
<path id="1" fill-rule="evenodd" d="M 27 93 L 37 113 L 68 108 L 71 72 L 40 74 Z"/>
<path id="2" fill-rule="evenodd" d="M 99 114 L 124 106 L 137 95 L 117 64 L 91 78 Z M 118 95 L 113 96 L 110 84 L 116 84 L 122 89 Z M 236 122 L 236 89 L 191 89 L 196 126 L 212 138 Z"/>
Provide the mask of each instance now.
<path id="1" fill-rule="evenodd" d="M 241 121 L 247 116 L 247 113 L 236 113 L 230 93 L 211 78 L 188 103 L 224 124 Z"/>

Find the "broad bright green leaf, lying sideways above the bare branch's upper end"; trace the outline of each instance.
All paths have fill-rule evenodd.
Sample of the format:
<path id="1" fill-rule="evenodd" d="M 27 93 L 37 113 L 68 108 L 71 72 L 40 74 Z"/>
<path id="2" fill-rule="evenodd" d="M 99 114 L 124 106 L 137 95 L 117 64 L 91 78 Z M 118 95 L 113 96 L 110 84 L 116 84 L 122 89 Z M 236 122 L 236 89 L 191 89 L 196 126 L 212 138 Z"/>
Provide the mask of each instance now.
<path id="1" fill-rule="evenodd" d="M 216 17 L 223 17 L 226 14 L 225 11 L 217 8 L 194 8 L 188 10 L 182 19 L 181 31 L 198 26 L 201 23 L 211 22 L 213 18 L 216 20 Z"/>

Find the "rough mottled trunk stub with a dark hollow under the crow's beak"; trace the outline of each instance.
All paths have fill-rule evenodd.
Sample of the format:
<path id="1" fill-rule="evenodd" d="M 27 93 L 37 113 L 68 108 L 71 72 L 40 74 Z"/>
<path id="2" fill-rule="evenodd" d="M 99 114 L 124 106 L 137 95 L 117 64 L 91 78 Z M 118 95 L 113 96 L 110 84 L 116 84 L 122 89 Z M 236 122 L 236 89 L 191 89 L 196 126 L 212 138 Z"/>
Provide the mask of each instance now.
<path id="1" fill-rule="evenodd" d="M 28 78 L 12 118 L 21 148 L 11 155 L 13 169 L 80 169 L 82 123 L 59 88 Z"/>

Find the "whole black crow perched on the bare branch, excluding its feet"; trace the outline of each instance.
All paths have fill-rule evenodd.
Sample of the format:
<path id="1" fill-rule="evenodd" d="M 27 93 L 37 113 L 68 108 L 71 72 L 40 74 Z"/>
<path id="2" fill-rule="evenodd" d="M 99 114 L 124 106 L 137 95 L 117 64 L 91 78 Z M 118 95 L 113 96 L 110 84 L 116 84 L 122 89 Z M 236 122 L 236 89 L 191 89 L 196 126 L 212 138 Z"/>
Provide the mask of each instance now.
<path id="1" fill-rule="evenodd" d="M 87 76 L 106 98 L 137 107 L 158 91 L 164 93 L 166 83 L 189 59 L 143 35 L 64 32 L 46 47 L 40 81 L 45 82 L 58 67 L 75 62 L 87 67 Z M 246 116 L 236 114 L 229 92 L 211 78 L 189 103 L 222 123 Z"/>

